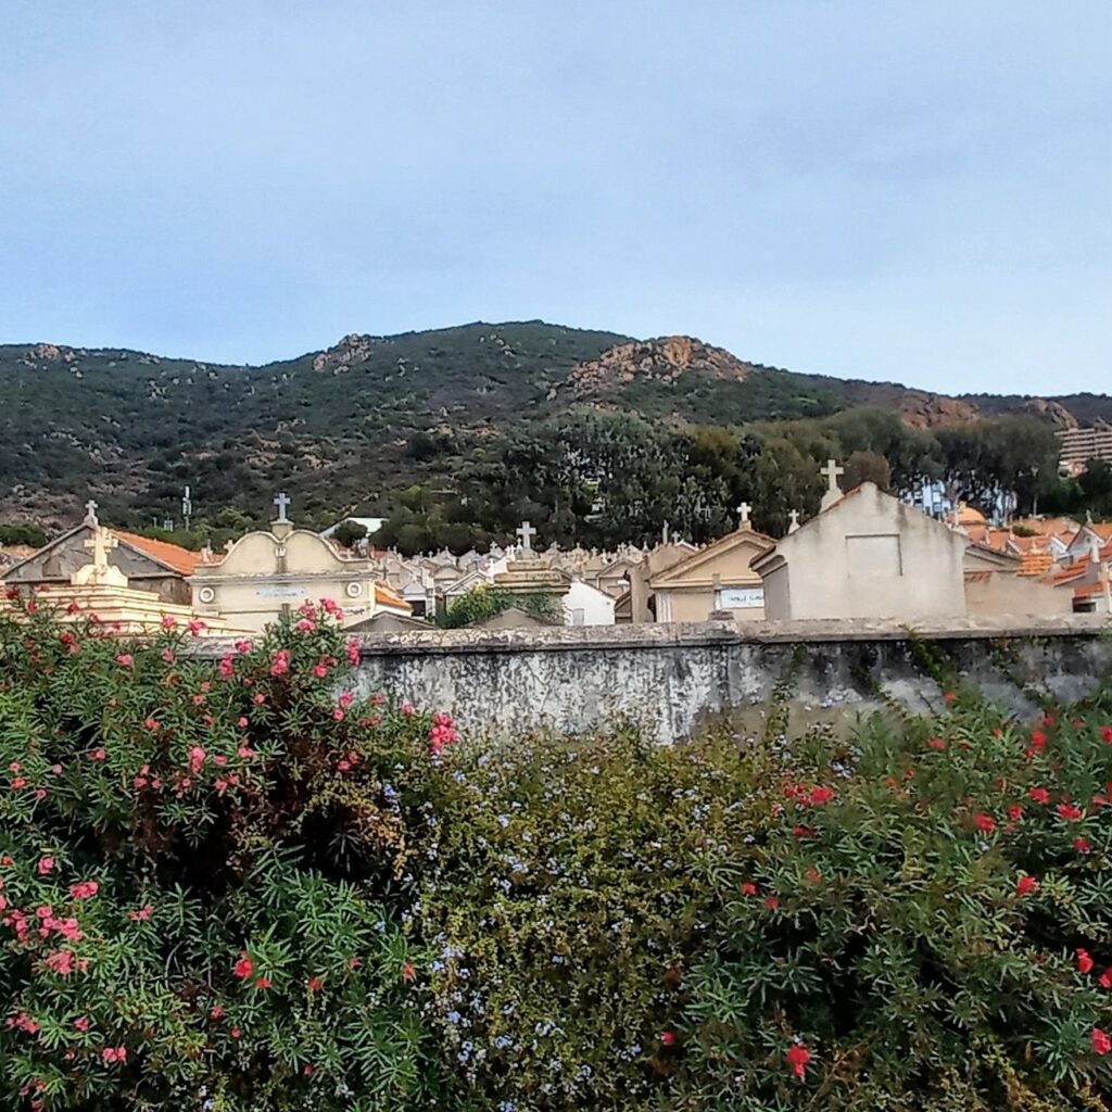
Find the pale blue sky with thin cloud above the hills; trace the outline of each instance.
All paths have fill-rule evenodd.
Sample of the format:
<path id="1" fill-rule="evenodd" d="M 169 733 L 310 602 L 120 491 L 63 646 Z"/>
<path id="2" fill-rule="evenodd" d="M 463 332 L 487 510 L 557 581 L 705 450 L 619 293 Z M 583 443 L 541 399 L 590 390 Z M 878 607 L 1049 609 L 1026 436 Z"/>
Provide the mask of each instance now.
<path id="1" fill-rule="evenodd" d="M 0 342 L 1112 390 L 1108 0 L 2 0 L 0 167 Z"/>

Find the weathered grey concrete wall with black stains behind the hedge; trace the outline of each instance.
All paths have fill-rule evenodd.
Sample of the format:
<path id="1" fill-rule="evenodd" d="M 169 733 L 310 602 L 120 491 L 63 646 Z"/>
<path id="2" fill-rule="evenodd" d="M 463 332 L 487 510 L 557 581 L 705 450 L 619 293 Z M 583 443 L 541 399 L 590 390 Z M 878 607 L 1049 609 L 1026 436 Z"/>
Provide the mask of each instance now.
<path id="1" fill-rule="evenodd" d="M 364 636 L 359 686 L 450 708 L 468 732 L 576 732 L 627 716 L 671 742 L 709 716 L 755 713 L 790 673 L 794 708 L 814 718 L 845 719 L 886 697 L 941 705 L 931 657 L 1033 713 L 1026 685 L 1071 699 L 1112 675 L 1108 628 L 1074 615 L 1022 626 L 947 618 L 914 635 L 867 620 L 417 631 Z"/>

